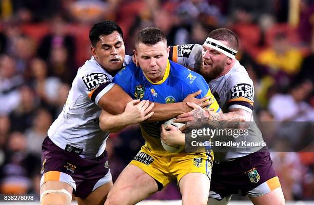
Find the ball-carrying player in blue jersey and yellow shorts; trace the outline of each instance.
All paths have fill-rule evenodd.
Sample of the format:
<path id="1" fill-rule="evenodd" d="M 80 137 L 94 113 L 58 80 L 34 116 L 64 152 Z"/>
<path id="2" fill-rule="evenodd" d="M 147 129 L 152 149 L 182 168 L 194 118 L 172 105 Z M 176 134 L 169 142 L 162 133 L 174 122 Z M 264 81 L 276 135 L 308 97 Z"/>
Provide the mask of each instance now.
<path id="1" fill-rule="evenodd" d="M 214 112 L 220 111 L 201 75 L 168 60 L 170 48 L 160 29 L 142 30 L 135 40 L 135 49 L 135 58 L 140 67 L 130 64 L 114 77 L 114 83 L 134 99 L 175 103 L 190 93 L 202 90 L 199 97 L 211 96 L 213 103 L 210 108 Z M 110 130 L 119 126 L 118 117 L 103 113 L 101 121 L 106 119 L 108 122 L 102 128 Z M 146 143 L 117 178 L 108 194 L 106 205 L 135 204 L 161 190 L 172 180 L 178 181 L 183 204 L 207 203 L 212 153 L 165 151 L 160 139 L 161 124 L 162 122 L 141 124 Z"/>

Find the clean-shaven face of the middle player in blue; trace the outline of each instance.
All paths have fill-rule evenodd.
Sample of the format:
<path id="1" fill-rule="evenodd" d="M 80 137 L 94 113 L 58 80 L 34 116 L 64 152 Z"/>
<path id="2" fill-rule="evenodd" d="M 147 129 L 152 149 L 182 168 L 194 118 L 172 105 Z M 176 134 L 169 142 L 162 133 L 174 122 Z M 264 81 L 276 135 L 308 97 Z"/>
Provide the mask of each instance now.
<path id="1" fill-rule="evenodd" d="M 167 67 L 170 47 L 165 42 L 155 45 L 139 43 L 136 46 L 135 57 L 146 77 L 153 83 L 162 80 Z"/>

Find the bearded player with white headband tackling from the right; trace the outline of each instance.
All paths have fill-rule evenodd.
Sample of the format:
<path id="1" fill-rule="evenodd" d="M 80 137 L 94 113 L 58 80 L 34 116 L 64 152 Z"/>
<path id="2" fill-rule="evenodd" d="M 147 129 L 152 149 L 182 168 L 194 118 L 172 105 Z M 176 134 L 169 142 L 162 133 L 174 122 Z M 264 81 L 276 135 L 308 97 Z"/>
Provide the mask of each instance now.
<path id="1" fill-rule="evenodd" d="M 252 115 L 253 81 L 235 59 L 238 44 L 238 37 L 231 30 L 221 28 L 210 32 L 203 46 L 172 47 L 170 58 L 200 73 L 223 110 L 223 114 L 218 114 L 190 103 L 188 105 L 193 110 L 179 115 L 175 122 L 207 121 L 218 128 L 237 124 L 241 127 L 241 122 L 249 122 L 246 139 L 263 141 Z M 184 135 L 178 129 L 162 129 L 161 136 L 169 144 L 185 142 Z M 266 147 L 224 148 L 226 151 L 214 153 L 208 205 L 227 204 L 232 194 L 247 195 L 253 204 L 285 204 L 279 178 Z"/>

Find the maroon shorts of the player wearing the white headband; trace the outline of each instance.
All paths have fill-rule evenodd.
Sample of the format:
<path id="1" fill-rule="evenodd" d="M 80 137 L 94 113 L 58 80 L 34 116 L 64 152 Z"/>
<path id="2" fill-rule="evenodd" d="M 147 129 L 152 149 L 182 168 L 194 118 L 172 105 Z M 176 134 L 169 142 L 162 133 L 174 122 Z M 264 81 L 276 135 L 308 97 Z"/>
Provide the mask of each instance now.
<path id="1" fill-rule="evenodd" d="M 209 197 L 214 194 L 219 194 L 221 198 L 230 194 L 245 196 L 273 177 L 276 174 L 269 151 L 265 148 L 232 161 L 216 161 L 212 167 Z"/>

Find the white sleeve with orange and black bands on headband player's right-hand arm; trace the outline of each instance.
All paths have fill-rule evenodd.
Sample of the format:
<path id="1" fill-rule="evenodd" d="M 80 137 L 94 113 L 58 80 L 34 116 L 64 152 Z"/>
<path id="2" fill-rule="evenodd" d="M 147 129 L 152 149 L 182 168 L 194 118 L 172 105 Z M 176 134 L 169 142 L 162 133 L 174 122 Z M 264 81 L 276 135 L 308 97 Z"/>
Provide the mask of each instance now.
<path id="1" fill-rule="evenodd" d="M 254 106 L 254 86 L 249 76 L 244 73 L 232 75 L 226 86 L 228 89 L 228 109 L 241 108 L 252 113 Z"/>

